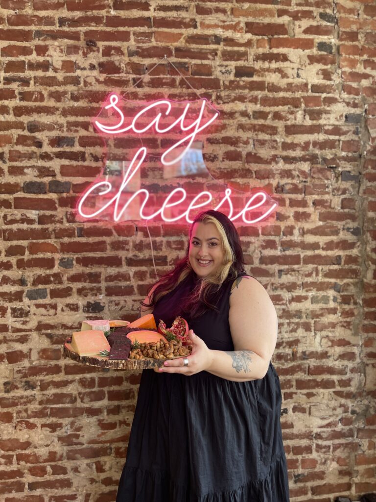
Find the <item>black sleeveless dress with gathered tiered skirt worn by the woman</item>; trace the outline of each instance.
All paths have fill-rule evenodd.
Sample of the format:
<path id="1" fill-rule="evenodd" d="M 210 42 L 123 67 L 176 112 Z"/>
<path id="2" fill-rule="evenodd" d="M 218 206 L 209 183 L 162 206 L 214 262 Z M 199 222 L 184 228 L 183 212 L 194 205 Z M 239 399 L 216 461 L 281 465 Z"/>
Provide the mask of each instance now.
<path id="1" fill-rule="evenodd" d="M 157 324 L 171 325 L 195 277 L 156 303 Z M 220 313 L 195 320 L 181 313 L 210 349 L 234 350 L 233 282 L 217 294 Z M 116 502 L 289 502 L 280 413 L 272 363 L 263 379 L 248 382 L 144 369 Z"/>

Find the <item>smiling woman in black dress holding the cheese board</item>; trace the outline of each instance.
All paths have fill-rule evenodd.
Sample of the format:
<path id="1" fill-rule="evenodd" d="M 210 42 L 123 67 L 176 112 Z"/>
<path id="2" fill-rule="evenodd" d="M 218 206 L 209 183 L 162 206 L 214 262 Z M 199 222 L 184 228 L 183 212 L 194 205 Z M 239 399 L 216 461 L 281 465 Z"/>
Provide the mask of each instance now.
<path id="1" fill-rule="evenodd" d="M 157 323 L 181 315 L 193 350 L 143 370 L 116 502 L 289 501 L 277 315 L 243 265 L 234 224 L 204 211 L 142 302 Z"/>

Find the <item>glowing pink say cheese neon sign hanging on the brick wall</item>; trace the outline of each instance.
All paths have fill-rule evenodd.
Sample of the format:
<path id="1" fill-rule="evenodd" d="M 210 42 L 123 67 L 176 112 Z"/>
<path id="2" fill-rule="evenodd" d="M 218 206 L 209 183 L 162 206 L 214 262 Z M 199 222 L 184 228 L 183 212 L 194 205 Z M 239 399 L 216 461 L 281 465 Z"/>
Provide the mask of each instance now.
<path id="1" fill-rule="evenodd" d="M 134 103 L 132 105 L 134 106 Z M 184 107 L 181 110 L 182 105 Z M 101 116 L 101 112 L 94 120 L 94 127 L 104 137 L 124 138 L 127 134 L 126 143 L 129 134 L 133 134 L 137 135 L 142 143 L 142 138 L 147 133 L 145 141 L 155 143 L 156 137 L 162 138 L 165 133 L 169 133 L 168 140 L 164 143 L 161 141 L 159 152 L 164 152 L 158 157 L 163 167 L 164 180 L 198 176 L 206 178 L 207 183 L 212 181 L 208 180 L 213 177 L 205 166 L 201 143 L 198 140 L 198 135 L 219 116 L 219 112 L 209 101 L 201 99 L 174 102 L 159 99 L 143 106 L 128 122 L 122 108 L 120 97 L 111 93 L 102 108 L 106 116 Z M 121 165 L 123 175 L 121 183 L 115 183 L 115 179 L 110 181 L 107 176 L 105 180 L 102 177 L 89 186 L 78 201 L 79 217 L 82 220 L 99 217 L 115 222 L 130 219 L 161 219 L 172 222 L 185 219 L 192 223 L 191 218 L 207 208 L 221 210 L 232 221 L 256 223 L 265 219 L 277 207 L 277 203 L 264 190 L 257 190 L 253 194 L 241 192 L 240 197 L 240 191 L 234 194 L 228 187 L 223 191 L 219 183 L 215 193 L 207 189 L 199 193 L 196 190 L 196 193 L 192 194 L 192 191 L 181 186 L 169 190 L 167 195 L 160 191 L 151 193 L 147 188 L 141 187 L 140 177 L 142 165 L 148 157 L 152 159 L 155 155 L 149 154 L 148 148 L 141 146 L 131 155 L 130 161 L 117 161 L 117 164 Z M 144 185 L 147 186 L 147 183 Z M 250 197 L 244 202 L 247 195 Z M 237 202 L 237 206 L 242 207 L 240 211 L 235 209 L 233 200 Z M 247 217 L 248 212 L 250 217 Z"/>

